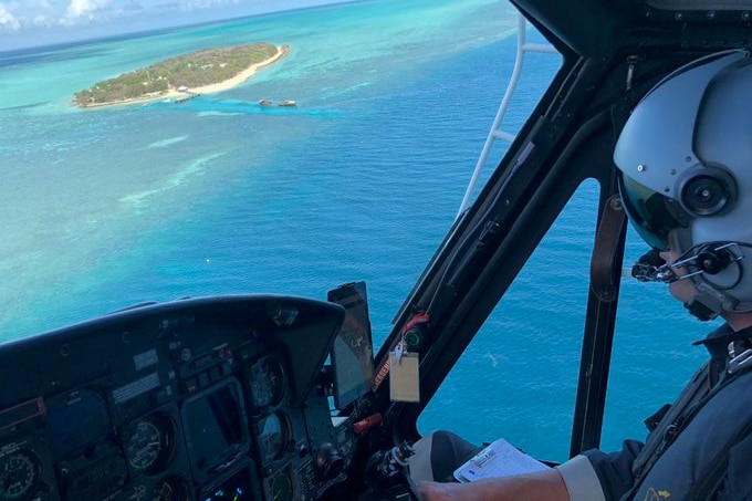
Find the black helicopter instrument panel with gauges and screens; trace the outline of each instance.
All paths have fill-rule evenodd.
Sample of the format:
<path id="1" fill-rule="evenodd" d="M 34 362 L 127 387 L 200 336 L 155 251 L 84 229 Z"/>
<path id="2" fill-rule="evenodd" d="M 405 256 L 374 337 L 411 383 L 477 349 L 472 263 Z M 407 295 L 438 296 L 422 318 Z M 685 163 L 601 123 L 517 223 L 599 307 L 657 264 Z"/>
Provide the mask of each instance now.
<path id="1" fill-rule="evenodd" d="M 0 501 L 317 499 L 354 449 L 316 387 L 343 317 L 207 298 L 0 345 Z"/>

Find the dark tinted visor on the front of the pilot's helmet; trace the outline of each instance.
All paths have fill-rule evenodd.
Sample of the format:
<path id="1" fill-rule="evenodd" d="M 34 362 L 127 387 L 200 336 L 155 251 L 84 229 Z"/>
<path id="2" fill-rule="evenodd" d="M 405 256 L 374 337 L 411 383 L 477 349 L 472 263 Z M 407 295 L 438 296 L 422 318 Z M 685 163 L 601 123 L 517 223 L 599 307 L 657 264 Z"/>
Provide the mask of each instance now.
<path id="1" fill-rule="evenodd" d="M 680 222 L 681 209 L 670 198 L 646 188 L 620 171 L 618 184 L 624 210 L 639 236 L 651 248 L 668 250 L 669 231 L 686 226 L 686 222 Z"/>

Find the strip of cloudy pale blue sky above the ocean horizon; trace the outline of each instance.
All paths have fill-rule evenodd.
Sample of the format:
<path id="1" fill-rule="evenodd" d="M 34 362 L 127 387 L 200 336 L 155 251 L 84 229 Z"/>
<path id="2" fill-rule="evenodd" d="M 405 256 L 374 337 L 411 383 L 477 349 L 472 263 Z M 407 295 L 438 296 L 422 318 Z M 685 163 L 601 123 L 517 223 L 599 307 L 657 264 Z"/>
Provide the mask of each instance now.
<path id="1" fill-rule="evenodd" d="M 342 0 L 0 0 L 0 52 Z"/>

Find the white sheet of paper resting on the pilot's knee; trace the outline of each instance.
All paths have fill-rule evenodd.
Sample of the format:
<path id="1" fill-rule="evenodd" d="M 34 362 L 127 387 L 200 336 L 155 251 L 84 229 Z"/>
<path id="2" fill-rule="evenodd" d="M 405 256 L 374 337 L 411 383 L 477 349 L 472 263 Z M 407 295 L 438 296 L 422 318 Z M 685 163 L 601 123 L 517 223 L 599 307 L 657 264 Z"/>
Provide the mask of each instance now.
<path id="1" fill-rule="evenodd" d="M 500 438 L 455 470 L 455 478 L 460 482 L 474 482 L 547 469 L 546 465 Z"/>

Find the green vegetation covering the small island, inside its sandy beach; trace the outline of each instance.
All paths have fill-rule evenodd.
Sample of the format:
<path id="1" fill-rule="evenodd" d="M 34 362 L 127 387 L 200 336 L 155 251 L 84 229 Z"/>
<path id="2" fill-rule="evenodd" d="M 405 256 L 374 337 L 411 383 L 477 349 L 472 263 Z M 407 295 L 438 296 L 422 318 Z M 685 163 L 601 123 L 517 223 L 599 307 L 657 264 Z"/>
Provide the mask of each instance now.
<path id="1" fill-rule="evenodd" d="M 278 52 L 275 45 L 265 42 L 197 51 L 98 82 L 75 93 L 74 103 L 82 107 L 127 103 L 217 84 L 274 58 Z"/>

